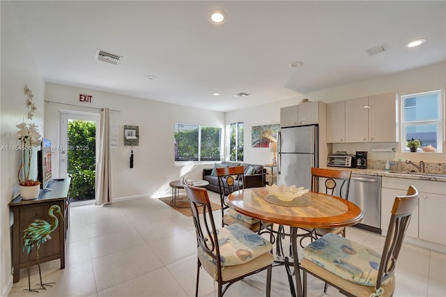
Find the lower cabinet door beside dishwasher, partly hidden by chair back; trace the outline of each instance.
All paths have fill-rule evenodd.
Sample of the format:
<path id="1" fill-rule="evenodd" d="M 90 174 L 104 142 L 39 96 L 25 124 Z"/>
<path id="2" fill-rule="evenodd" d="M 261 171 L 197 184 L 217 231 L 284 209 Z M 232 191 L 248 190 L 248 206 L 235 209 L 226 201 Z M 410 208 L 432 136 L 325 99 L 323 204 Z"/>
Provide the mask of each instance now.
<path id="1" fill-rule="evenodd" d="M 383 235 L 387 234 L 387 229 L 389 229 L 390 216 L 392 215 L 392 207 L 395 197 L 404 196 L 406 194 L 407 190 L 389 188 L 381 189 L 381 229 L 383 230 Z M 407 236 L 418 238 L 418 220 L 418 206 L 416 206 L 406 231 Z"/>

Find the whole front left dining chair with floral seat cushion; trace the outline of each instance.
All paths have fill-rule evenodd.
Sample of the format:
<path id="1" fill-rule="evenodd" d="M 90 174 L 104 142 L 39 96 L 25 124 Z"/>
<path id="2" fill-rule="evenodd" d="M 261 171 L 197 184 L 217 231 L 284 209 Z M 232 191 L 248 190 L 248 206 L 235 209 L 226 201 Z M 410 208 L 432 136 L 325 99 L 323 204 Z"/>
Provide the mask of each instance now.
<path id="1" fill-rule="evenodd" d="M 223 296 L 231 284 L 248 275 L 267 270 L 266 296 L 270 296 L 271 272 L 274 257 L 272 244 L 259 234 L 240 224 L 215 228 L 212 208 L 206 188 L 183 185 L 190 199 L 192 218 L 197 234 L 197 284 L 198 296 L 200 268 L 218 283 L 218 296 Z"/>

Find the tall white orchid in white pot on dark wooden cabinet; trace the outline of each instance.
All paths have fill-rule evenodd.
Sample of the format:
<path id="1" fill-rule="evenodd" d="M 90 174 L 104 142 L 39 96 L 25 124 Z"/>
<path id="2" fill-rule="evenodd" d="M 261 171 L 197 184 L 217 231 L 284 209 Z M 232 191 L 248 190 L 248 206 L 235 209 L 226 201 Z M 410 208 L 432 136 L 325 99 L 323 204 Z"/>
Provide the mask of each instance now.
<path id="1" fill-rule="evenodd" d="M 22 164 L 20 165 L 17 179 L 20 185 L 22 199 L 36 199 L 39 195 L 40 182 L 30 178 L 31 161 L 33 160 L 33 148 L 40 144 L 40 134 L 34 123 L 20 123 L 16 125 L 20 130 L 17 135 L 20 140 L 20 151 L 22 152 Z"/>

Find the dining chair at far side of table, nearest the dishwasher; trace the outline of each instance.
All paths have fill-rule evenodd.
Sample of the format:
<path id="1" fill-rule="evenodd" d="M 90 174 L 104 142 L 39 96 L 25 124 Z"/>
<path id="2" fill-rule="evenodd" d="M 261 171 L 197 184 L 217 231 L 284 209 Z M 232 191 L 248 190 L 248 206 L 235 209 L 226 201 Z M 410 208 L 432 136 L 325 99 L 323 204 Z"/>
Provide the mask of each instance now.
<path id="1" fill-rule="evenodd" d="M 348 200 L 348 189 L 350 188 L 351 171 L 341 169 L 323 169 L 312 167 L 312 191 L 325 192 L 325 194 L 341 197 Z M 325 180 L 325 181 L 323 181 Z M 345 227 L 304 229 L 307 233 L 302 234 L 300 245 L 306 237 L 312 241 L 328 233 L 346 236 Z M 304 246 L 302 246 L 304 248 Z"/>

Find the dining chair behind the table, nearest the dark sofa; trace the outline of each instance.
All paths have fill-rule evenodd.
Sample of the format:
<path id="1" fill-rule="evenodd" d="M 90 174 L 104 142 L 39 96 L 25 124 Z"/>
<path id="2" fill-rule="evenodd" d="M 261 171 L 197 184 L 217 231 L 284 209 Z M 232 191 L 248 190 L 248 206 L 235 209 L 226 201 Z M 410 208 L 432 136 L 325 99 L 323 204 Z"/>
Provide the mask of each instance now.
<path id="1" fill-rule="evenodd" d="M 222 227 L 238 223 L 254 232 L 261 229 L 261 221 L 250 218 L 229 208 L 227 197 L 236 190 L 243 190 L 245 185 L 245 167 L 217 167 L 215 174 L 218 177 L 220 203 L 222 204 Z"/>

